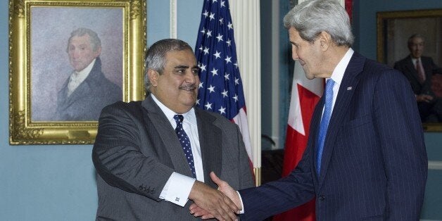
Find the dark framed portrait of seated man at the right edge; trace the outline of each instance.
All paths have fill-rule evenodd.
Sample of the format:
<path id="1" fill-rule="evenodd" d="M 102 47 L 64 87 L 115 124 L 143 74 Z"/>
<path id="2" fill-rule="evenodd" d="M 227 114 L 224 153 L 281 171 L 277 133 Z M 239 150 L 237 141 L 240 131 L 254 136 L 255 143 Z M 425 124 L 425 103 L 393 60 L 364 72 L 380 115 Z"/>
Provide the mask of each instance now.
<path id="1" fill-rule="evenodd" d="M 416 43 L 416 48 L 412 49 L 412 44 L 415 43 L 409 44 L 408 39 L 416 37 L 420 43 Z M 410 81 L 415 94 L 419 91 L 432 98 L 425 103 L 417 102 L 422 126 L 426 132 L 442 132 L 441 39 L 442 9 L 377 13 L 377 60 L 392 68 L 396 64 L 396 68 L 403 70 Z M 419 81 L 415 63 L 412 63 L 415 56 L 421 58 L 422 69 L 427 76 L 422 77 L 424 80 Z"/>

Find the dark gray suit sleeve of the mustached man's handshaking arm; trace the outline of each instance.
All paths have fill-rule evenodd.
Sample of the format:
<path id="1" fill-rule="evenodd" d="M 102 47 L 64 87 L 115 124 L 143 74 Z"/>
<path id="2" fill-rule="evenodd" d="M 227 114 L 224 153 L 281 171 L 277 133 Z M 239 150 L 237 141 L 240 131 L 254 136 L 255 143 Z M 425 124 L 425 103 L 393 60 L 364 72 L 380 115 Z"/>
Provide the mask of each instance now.
<path id="1" fill-rule="evenodd" d="M 143 145 L 152 146 L 152 153 L 141 152 L 141 122 L 121 102 L 117 104 L 121 106 L 104 108 L 99 119 L 92 150 L 96 172 L 110 186 L 160 201 L 160 192 L 174 170 L 154 157 L 150 142 Z"/>

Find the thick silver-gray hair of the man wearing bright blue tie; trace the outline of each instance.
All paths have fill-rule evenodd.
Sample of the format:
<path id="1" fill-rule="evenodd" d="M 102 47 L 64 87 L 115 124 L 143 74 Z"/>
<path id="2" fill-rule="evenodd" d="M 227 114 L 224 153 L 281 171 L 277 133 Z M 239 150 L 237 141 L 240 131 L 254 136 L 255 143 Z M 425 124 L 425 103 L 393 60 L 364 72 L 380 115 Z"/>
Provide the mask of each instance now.
<path id="1" fill-rule="evenodd" d="M 284 27 L 294 27 L 307 42 L 315 42 L 321 32 L 331 35 L 339 46 L 351 46 L 353 34 L 346 10 L 335 0 L 303 1 L 284 16 Z"/>

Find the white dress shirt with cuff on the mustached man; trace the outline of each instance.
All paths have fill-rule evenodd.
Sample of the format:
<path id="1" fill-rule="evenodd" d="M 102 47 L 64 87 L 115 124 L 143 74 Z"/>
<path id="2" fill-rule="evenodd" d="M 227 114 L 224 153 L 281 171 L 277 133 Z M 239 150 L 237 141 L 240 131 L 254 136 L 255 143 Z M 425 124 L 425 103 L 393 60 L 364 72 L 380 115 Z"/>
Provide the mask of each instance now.
<path id="1" fill-rule="evenodd" d="M 163 113 L 166 115 L 166 118 L 168 118 L 172 127 L 176 128 L 177 122 L 175 122 L 173 116 L 177 113 L 170 110 L 163 103 L 158 101 L 158 99 L 153 94 L 151 94 L 151 96 L 153 101 L 155 101 L 160 109 L 163 110 Z M 195 110 L 194 108 L 191 108 L 189 112 L 183 113 L 182 115 L 184 117 L 184 120 L 182 122 L 183 129 L 189 137 L 192 155 L 194 156 L 196 179 L 198 179 L 198 181 L 204 182 L 203 160 L 201 158 L 201 148 L 198 139 L 198 127 L 196 124 Z M 168 182 L 166 182 L 163 191 L 161 191 L 160 198 L 164 199 L 165 201 L 175 203 L 179 206 L 184 206 L 188 201 L 190 191 L 194 186 L 194 182 L 194 177 L 188 177 L 177 172 L 172 172 L 172 175 L 170 175 Z"/>

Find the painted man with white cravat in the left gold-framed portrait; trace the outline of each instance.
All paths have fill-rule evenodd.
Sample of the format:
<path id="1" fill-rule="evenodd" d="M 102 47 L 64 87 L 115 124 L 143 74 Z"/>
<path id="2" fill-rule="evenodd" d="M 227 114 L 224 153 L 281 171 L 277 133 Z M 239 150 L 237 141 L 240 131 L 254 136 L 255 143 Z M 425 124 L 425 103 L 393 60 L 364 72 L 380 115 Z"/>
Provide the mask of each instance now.
<path id="1" fill-rule="evenodd" d="M 72 71 L 58 91 L 56 120 L 98 120 L 101 109 L 122 100 L 122 91 L 101 72 L 101 41 L 93 30 L 73 31 L 66 49 Z"/>

